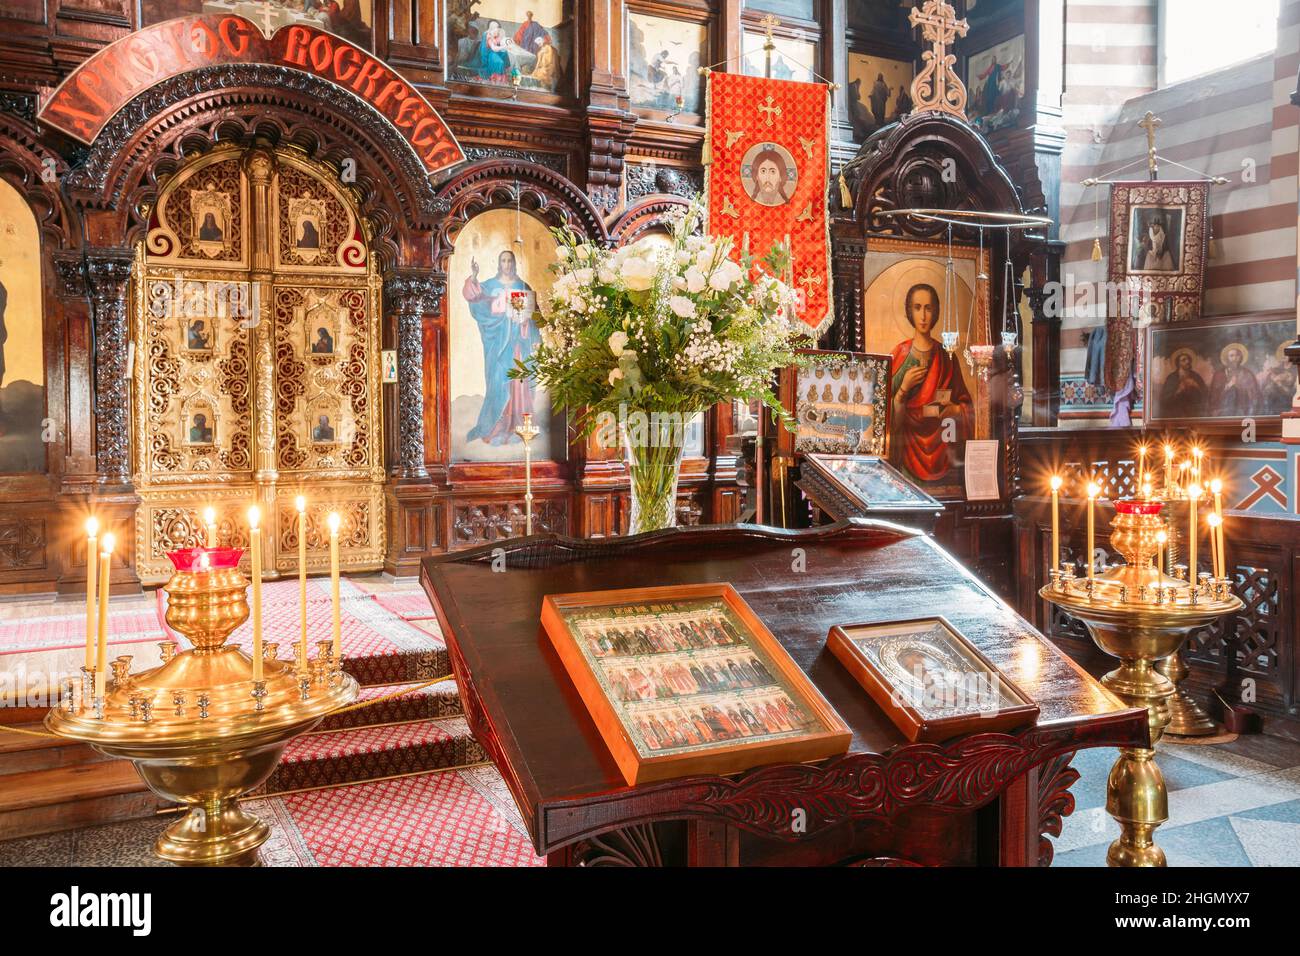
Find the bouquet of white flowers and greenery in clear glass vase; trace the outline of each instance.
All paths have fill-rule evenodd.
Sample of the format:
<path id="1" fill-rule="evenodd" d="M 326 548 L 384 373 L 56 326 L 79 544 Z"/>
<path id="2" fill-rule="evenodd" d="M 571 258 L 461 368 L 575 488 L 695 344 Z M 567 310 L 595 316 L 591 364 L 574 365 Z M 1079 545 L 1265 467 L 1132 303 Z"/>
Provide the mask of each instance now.
<path id="1" fill-rule="evenodd" d="M 541 345 L 511 372 L 549 390 L 584 436 L 621 438 L 632 476 L 632 531 L 668 527 L 692 416 L 719 402 L 758 399 L 789 423 L 772 392 L 809 329 L 796 293 L 777 276 L 789 252 L 763 259 L 732 241 L 697 235 L 693 203 L 671 242 L 619 250 L 556 229 L 558 278 L 542 315 Z"/>

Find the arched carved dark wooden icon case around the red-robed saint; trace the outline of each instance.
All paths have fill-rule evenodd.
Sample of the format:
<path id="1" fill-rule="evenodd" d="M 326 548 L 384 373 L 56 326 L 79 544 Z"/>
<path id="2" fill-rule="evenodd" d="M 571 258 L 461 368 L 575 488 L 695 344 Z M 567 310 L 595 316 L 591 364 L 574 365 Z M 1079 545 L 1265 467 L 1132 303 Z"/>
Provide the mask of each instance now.
<path id="1" fill-rule="evenodd" d="M 1010 499 L 1017 493 L 1017 412 L 1020 352 L 1001 347 L 1001 332 L 1023 341 L 1031 334 L 1019 313 L 1006 317 L 1002 282 L 1010 254 L 1010 295 L 1019 302 L 1019 277 L 1035 264 L 1043 274 L 1048 258 L 1041 238 L 949 226 L 893 209 L 939 208 L 1022 213 L 1018 190 L 985 139 L 968 124 L 937 113 L 909 116 L 874 133 L 844 168 L 853 199 L 835 209 L 836 324 L 823 347 L 890 355 L 890 389 L 906 375 L 915 329 L 907 316 L 914 297 L 937 299 L 932 332 L 933 362 L 924 385 L 936 390 L 942 415 L 890 416 L 888 458 L 926 493 L 949 503 L 936 528 L 944 544 L 985 580 L 1010 593 Z M 949 260 L 952 267 L 949 268 Z M 949 302 L 944 302 L 944 299 Z M 940 332 L 957 333 L 944 354 Z M 980 367 L 972 346 L 996 346 L 992 363 Z M 952 433 L 944 433 L 944 419 Z M 996 440 L 996 498 L 970 501 L 965 483 L 967 441 Z"/>

